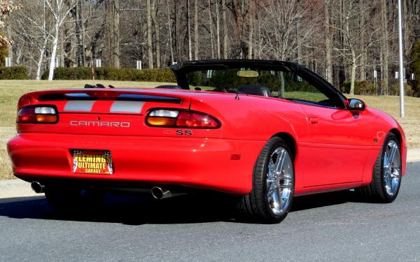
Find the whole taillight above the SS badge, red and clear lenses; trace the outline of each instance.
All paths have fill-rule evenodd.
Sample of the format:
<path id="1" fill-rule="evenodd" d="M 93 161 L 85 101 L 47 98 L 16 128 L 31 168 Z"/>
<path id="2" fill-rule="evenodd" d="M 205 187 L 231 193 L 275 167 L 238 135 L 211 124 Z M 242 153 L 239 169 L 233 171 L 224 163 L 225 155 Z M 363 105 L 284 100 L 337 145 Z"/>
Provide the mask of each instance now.
<path id="1" fill-rule="evenodd" d="M 221 126 L 216 118 L 202 112 L 169 109 L 152 110 L 146 117 L 146 124 L 190 129 L 218 129 Z"/>

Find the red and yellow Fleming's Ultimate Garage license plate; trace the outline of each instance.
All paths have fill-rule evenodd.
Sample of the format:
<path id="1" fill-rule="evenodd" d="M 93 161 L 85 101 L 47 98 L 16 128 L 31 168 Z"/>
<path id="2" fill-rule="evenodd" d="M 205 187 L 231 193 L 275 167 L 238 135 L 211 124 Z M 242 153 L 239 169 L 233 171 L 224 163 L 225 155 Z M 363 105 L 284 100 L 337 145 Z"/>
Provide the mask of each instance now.
<path id="1" fill-rule="evenodd" d="M 73 173 L 111 175 L 113 173 L 111 152 L 74 150 Z"/>

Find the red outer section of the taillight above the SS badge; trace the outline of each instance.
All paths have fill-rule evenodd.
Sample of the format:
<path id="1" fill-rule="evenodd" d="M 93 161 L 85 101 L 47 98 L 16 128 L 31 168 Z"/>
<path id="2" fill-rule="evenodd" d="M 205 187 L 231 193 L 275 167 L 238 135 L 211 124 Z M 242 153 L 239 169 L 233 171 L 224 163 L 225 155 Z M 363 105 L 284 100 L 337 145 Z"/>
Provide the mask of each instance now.
<path id="1" fill-rule="evenodd" d="M 177 127 L 217 129 L 219 125 L 219 122 L 214 117 L 200 112 L 181 111 L 176 119 Z"/>

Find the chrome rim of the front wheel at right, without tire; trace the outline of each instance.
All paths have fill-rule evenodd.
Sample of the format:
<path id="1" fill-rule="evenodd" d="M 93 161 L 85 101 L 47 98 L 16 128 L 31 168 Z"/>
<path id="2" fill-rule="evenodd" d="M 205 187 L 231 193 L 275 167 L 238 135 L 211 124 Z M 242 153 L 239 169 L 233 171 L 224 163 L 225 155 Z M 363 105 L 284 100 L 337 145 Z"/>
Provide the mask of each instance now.
<path id="1" fill-rule="evenodd" d="M 388 141 L 383 164 L 385 191 L 388 196 L 393 196 L 398 191 L 401 181 L 401 154 L 395 140 Z"/>

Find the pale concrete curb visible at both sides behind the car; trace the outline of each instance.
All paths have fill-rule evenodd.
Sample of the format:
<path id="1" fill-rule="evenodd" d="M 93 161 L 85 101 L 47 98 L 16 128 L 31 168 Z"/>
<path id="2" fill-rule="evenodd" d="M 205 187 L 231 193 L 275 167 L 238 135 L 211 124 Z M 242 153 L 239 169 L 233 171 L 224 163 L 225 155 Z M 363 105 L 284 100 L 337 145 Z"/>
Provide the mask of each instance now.
<path id="1" fill-rule="evenodd" d="M 409 149 L 407 152 L 407 162 L 416 161 L 420 161 L 420 148 Z M 19 201 L 19 198 L 33 196 L 43 196 L 43 194 L 34 193 L 28 182 L 19 179 L 0 180 L 0 199 L 16 198 L 16 201 Z"/>

